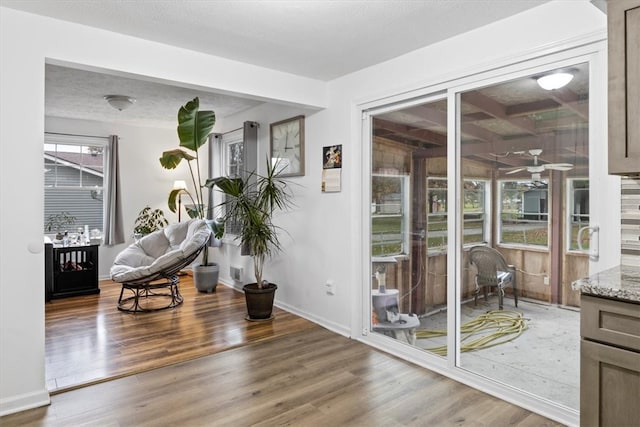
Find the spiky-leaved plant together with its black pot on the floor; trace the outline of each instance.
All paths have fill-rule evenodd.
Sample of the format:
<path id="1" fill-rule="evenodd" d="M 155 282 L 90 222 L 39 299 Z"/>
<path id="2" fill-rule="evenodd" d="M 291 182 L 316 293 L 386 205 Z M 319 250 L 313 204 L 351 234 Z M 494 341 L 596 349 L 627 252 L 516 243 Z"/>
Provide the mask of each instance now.
<path id="1" fill-rule="evenodd" d="M 277 163 L 267 159 L 267 172 L 253 172 L 244 178 L 221 177 L 207 181 L 207 186 L 218 187 L 228 197 L 225 221 L 240 225 L 238 238 L 243 248 L 253 257 L 256 282 L 244 285 L 248 320 L 272 318 L 273 299 L 278 286 L 263 280 L 262 271 L 268 256 L 281 249 L 279 227 L 273 223 L 273 214 L 291 206 L 288 184 L 280 178 Z"/>

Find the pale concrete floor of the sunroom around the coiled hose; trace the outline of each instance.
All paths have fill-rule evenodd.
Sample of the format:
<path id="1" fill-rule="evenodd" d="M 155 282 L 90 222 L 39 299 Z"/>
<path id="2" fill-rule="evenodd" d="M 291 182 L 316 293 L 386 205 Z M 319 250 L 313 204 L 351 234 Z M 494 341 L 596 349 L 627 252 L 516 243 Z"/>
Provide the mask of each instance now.
<path id="1" fill-rule="evenodd" d="M 462 305 L 462 323 L 498 309 L 498 298 Z M 522 313 L 526 329 L 513 341 L 463 352 L 461 367 L 572 409 L 580 402 L 580 312 L 575 308 L 505 298 L 504 310 Z M 423 317 L 421 328 L 445 329 L 446 311 Z M 446 338 L 416 340 L 420 348 L 442 345 Z"/>

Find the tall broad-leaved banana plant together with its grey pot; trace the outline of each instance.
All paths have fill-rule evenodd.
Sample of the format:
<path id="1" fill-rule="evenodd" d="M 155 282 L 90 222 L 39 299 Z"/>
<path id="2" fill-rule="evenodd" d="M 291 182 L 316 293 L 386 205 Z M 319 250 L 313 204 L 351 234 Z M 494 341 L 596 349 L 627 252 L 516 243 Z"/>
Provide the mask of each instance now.
<path id="1" fill-rule="evenodd" d="M 165 169 L 175 169 L 182 160 L 185 160 L 189 166 L 193 193 L 183 189 L 172 190 L 169 193 L 168 201 L 171 212 L 177 211 L 176 199 L 180 193 L 184 193 L 192 202 L 186 208 L 189 217 L 206 220 L 207 208 L 202 192 L 205 187 L 200 178 L 199 149 L 209 140 L 209 135 L 215 122 L 216 115 L 213 111 L 200 111 L 198 97 L 187 102 L 178 110 L 177 131 L 180 148 L 163 152 L 162 157 L 160 157 L 160 164 Z M 195 165 L 192 164 L 193 162 L 195 162 Z M 207 223 L 212 227 L 212 220 L 208 220 Z M 221 232 L 216 230 L 216 237 L 220 236 Z M 218 264 L 209 261 L 209 244 L 205 245 L 202 253 L 202 263 L 193 265 L 193 281 L 199 291 L 213 292 L 218 284 L 219 267 Z"/>

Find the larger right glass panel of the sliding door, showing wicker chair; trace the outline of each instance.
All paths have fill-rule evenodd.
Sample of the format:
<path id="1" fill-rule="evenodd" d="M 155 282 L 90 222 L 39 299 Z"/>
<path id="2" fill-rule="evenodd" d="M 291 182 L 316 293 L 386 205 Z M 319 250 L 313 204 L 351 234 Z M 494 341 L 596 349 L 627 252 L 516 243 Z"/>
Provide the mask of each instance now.
<path id="1" fill-rule="evenodd" d="M 460 94 L 460 366 L 578 409 L 579 305 L 589 274 L 589 67 Z"/>

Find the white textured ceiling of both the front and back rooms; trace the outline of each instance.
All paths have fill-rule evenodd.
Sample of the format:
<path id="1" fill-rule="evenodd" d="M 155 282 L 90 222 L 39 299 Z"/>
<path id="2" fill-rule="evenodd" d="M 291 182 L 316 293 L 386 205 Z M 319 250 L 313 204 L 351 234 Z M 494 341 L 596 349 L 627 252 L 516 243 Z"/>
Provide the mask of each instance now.
<path id="1" fill-rule="evenodd" d="M 319 80 L 331 80 L 549 0 L 0 0 L 76 22 Z M 47 67 L 46 114 L 165 126 L 200 96 L 218 116 L 256 101 L 148 81 Z M 137 98 L 127 115 L 107 94 Z"/>

